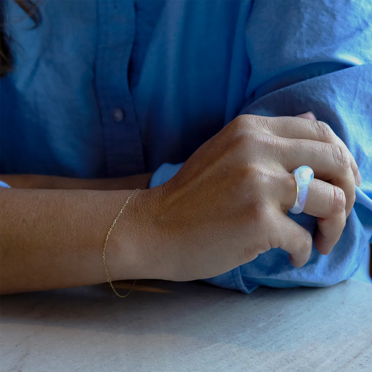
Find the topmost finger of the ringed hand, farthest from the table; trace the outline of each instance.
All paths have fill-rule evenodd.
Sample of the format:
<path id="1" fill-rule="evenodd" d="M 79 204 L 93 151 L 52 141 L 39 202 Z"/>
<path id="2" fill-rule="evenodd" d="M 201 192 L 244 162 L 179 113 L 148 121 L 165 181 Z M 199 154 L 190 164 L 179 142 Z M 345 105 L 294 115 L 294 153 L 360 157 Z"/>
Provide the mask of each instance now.
<path id="1" fill-rule="evenodd" d="M 310 113 L 306 113 L 302 115 L 311 117 Z M 326 142 L 329 144 L 333 144 L 339 147 L 343 147 L 349 154 L 350 166 L 351 166 L 351 169 L 355 177 L 356 185 L 360 186 L 360 182 L 361 182 L 360 173 L 359 173 L 356 161 L 353 157 L 353 154 L 350 153 L 349 149 L 346 147 L 346 145 L 341 140 L 341 138 L 337 137 L 337 135 L 333 132 L 333 130 L 328 124 L 322 121 L 309 120 L 307 118 L 305 119 L 302 117 L 299 117 L 299 118 L 285 117 L 285 118 L 268 118 L 268 119 L 270 120 L 267 121 L 266 127 L 269 127 L 268 129 L 274 135 L 278 137 L 320 141 L 320 142 Z M 285 119 L 285 125 L 283 125 L 283 119 Z"/>

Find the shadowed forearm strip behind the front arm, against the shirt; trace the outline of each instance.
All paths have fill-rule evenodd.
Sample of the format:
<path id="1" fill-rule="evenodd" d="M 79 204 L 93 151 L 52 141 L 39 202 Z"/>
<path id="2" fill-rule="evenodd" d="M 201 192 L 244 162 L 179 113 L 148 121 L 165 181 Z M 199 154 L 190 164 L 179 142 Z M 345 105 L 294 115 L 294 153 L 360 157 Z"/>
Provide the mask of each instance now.
<path id="1" fill-rule="evenodd" d="M 145 173 L 118 178 L 77 179 L 37 174 L 2 174 L 0 180 L 12 188 L 20 189 L 144 190 L 148 188 L 151 175 L 152 173 Z"/>

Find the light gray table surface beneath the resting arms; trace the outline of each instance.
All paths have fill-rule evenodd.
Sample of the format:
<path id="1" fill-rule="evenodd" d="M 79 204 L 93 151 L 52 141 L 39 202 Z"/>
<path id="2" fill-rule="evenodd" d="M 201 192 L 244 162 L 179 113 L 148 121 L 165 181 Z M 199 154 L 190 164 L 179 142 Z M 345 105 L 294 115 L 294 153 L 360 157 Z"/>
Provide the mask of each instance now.
<path id="1" fill-rule="evenodd" d="M 127 283 L 119 283 L 125 289 Z M 124 289 L 122 289 L 124 291 Z M 372 285 L 140 281 L 0 297 L 0 371 L 372 371 Z"/>

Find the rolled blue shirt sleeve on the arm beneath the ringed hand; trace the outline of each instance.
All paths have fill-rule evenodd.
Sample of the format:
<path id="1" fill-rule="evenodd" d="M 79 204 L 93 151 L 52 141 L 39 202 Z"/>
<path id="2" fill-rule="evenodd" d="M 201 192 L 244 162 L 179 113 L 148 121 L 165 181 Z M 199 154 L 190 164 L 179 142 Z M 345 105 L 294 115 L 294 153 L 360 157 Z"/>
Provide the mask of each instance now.
<path id="1" fill-rule="evenodd" d="M 246 27 L 251 75 L 240 113 L 295 116 L 311 110 L 352 152 L 362 185 L 328 256 L 313 248 L 309 262 L 298 269 L 288 253 L 272 249 L 208 282 L 249 293 L 259 285 L 333 285 L 355 274 L 372 236 L 371 25 L 368 0 L 254 1 Z M 160 167 L 151 186 L 173 177 L 181 166 Z M 290 217 L 314 233 L 314 217 Z"/>

